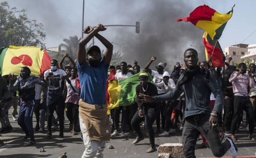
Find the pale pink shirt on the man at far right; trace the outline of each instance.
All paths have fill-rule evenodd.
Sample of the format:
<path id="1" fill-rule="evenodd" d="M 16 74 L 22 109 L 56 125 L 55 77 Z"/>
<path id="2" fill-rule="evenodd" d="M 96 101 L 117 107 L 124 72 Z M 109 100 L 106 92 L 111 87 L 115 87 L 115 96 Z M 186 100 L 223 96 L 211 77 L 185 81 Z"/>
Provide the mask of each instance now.
<path id="1" fill-rule="evenodd" d="M 240 73 L 237 75 L 237 73 L 237 71 L 234 71 L 229 78 L 229 82 L 232 82 L 233 84 L 234 95 L 248 95 L 248 86 L 250 85 L 250 88 L 254 87 L 253 78 L 249 77 L 247 74 Z"/>

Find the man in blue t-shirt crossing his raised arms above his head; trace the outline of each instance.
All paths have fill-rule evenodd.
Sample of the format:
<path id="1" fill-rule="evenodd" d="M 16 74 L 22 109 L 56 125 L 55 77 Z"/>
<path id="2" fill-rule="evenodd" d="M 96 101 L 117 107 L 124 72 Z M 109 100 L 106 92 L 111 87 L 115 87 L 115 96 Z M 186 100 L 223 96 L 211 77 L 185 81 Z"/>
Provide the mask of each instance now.
<path id="1" fill-rule="evenodd" d="M 79 121 L 81 127 L 81 133 L 83 134 L 84 140 L 84 154 L 82 158 L 94 158 L 97 155 L 98 158 L 103 158 L 103 150 L 106 146 L 106 141 L 102 140 L 104 136 L 102 135 L 91 135 L 88 125 L 89 118 L 95 117 L 108 117 L 107 113 L 103 113 L 104 116 L 93 116 L 93 112 L 96 115 L 97 113 L 101 113 L 101 108 L 93 109 L 91 116 L 93 117 L 84 117 L 82 111 L 86 111 L 87 107 L 92 108 L 93 105 L 95 107 L 103 107 L 106 109 L 106 88 L 107 88 L 107 74 L 108 74 L 108 66 L 111 61 L 112 53 L 113 53 L 113 45 L 111 42 L 106 40 L 104 37 L 98 34 L 99 31 L 105 31 L 105 28 L 102 24 L 97 25 L 95 29 L 90 26 L 87 26 L 83 33 L 88 34 L 86 37 L 80 40 L 78 45 L 78 54 L 77 54 L 77 68 L 79 73 L 79 81 L 81 85 L 81 95 L 79 101 Z M 94 45 L 87 50 L 85 50 L 85 45 L 93 38 L 96 37 L 103 45 L 106 47 L 106 51 L 104 53 L 103 59 L 101 57 L 101 51 L 98 46 Z M 101 60 L 102 59 L 102 60 Z M 86 106 L 84 106 L 86 104 Z M 103 108 L 102 108 L 103 109 Z M 97 111 L 95 111 L 97 110 Z M 90 121 L 90 120 L 89 120 Z M 108 126 L 110 127 L 110 123 L 108 121 Z M 91 129 L 91 128 L 90 128 Z M 108 130 L 106 130 L 108 133 Z M 109 131 L 111 132 L 111 131 Z M 93 138 L 99 138 L 97 139 Z M 101 141 L 102 140 L 102 141 Z"/>

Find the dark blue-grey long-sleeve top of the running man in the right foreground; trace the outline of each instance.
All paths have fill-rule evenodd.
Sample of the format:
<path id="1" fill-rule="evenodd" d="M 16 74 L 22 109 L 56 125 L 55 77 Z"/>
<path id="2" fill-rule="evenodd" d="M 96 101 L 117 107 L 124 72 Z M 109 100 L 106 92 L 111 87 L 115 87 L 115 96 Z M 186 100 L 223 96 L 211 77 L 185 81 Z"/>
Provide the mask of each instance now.
<path id="1" fill-rule="evenodd" d="M 184 91 L 186 99 L 186 109 L 184 117 L 193 116 L 197 114 L 210 114 L 212 110 L 209 107 L 210 95 L 214 94 L 215 104 L 213 110 L 221 112 L 221 107 L 224 103 L 224 96 L 218 86 L 215 77 L 212 72 L 209 72 L 209 81 L 205 79 L 206 73 L 196 74 L 192 80 L 185 83 L 181 88 L 176 87 L 172 92 L 155 96 L 155 100 L 175 100 L 180 97 L 180 94 Z M 183 78 L 183 74 L 180 76 L 177 83 Z"/>

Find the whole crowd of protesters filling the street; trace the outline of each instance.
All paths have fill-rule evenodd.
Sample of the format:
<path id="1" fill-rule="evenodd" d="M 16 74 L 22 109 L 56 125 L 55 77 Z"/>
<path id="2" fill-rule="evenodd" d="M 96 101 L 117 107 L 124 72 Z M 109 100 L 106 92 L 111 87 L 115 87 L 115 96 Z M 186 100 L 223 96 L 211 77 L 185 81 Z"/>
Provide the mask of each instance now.
<path id="1" fill-rule="evenodd" d="M 24 146 L 36 143 L 34 130 L 44 132 L 46 120 L 46 138 L 52 138 L 52 130 L 58 128 L 58 138 L 64 138 L 65 111 L 70 124 L 69 132 L 77 135 L 81 131 L 85 146 L 82 158 L 103 157 L 106 141 L 118 135 L 137 134 L 133 144 L 147 136 L 150 148 L 146 152 L 155 152 L 154 135 L 172 135 L 180 130 L 183 130 L 185 157 L 195 157 L 195 144 L 200 134 L 203 143 L 199 147 L 210 148 L 216 157 L 223 156 L 227 151 L 236 157 L 235 134 L 243 128 L 241 122 L 245 111 L 244 127 L 250 133 L 250 140 L 256 141 L 253 136 L 256 122 L 255 64 L 250 64 L 247 69 L 245 63 L 240 63 L 236 68 L 229 64 L 232 58 L 228 58 L 225 68 L 214 68 L 211 58 L 198 62 L 197 51 L 190 48 L 184 53 L 185 65 L 177 62 L 172 72 L 165 71 L 167 63 L 163 62 L 154 64 L 156 71 L 149 68 L 156 56 L 145 65 L 143 72 L 140 72 L 137 61 L 134 66 L 127 62 L 121 62 L 116 67 L 109 66 L 113 45 L 99 34 L 105 30 L 101 24 L 95 29 L 90 26 L 84 29 L 87 36 L 79 42 L 77 65 L 66 54 L 59 68 L 58 61 L 52 59 L 51 69 L 44 75 L 31 75 L 30 69 L 25 66 L 19 76 L 12 73 L 0 76 L 0 133 L 12 132 L 8 110 L 13 106 L 12 118 L 25 133 L 19 140 L 30 139 Z M 101 56 L 98 46 L 85 49 L 93 37 L 106 47 L 104 56 Z M 70 59 L 73 67 L 63 67 L 65 58 Z M 108 116 L 109 80 L 119 82 L 137 73 L 140 73 L 140 84 L 136 87 L 135 104 L 116 107 Z M 148 82 L 150 75 L 154 83 Z M 20 106 L 19 113 L 17 104 Z M 54 111 L 57 118 L 53 115 Z M 36 118 L 34 129 L 33 112 Z M 155 121 L 157 127 L 154 130 Z M 224 133 L 220 133 L 218 127 L 222 127 Z"/>

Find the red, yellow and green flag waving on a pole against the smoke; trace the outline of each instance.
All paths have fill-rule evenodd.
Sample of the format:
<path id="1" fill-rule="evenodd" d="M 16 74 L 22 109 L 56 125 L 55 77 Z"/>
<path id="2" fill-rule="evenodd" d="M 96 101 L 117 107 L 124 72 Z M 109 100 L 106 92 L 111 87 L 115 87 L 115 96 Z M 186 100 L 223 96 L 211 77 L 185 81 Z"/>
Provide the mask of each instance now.
<path id="1" fill-rule="evenodd" d="M 233 7 L 227 14 L 220 14 L 209 6 L 199 6 L 190 13 L 189 17 L 176 20 L 190 21 L 198 28 L 206 31 L 203 35 L 206 59 L 208 60 L 208 57 L 212 56 L 212 64 L 215 68 L 224 66 L 224 54 L 218 39 L 221 37 L 227 21 L 233 15 Z"/>

